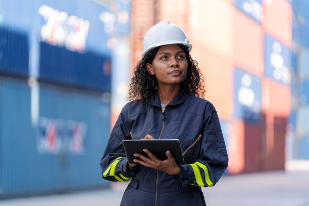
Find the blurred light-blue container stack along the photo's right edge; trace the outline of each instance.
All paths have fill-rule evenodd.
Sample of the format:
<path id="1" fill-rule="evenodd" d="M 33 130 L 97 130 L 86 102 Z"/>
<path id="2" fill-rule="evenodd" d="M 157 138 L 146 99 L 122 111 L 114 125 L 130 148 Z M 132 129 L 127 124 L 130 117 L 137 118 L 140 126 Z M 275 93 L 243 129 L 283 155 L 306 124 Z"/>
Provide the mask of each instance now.
<path id="1" fill-rule="evenodd" d="M 293 1 L 293 67 L 295 68 L 291 128 L 290 159 L 309 160 L 309 2 Z"/>

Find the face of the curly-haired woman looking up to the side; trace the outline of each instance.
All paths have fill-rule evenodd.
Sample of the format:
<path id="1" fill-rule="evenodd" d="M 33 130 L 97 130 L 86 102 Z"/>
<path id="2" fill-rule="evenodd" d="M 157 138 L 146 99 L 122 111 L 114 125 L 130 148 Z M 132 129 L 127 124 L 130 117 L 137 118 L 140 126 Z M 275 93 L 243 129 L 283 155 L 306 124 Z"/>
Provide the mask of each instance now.
<path id="1" fill-rule="evenodd" d="M 183 50 L 177 44 L 159 48 L 152 64 L 146 64 L 147 71 L 156 75 L 158 86 L 180 84 L 187 76 L 188 62 Z"/>

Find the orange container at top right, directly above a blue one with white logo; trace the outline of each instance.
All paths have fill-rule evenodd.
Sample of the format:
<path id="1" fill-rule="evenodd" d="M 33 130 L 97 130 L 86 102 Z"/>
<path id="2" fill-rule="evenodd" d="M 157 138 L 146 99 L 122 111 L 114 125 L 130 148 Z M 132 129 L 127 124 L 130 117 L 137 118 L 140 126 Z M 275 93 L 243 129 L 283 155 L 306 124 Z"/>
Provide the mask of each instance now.
<path id="1" fill-rule="evenodd" d="M 287 46 L 292 43 L 292 8 L 286 0 L 262 1 L 262 25 L 266 33 Z"/>

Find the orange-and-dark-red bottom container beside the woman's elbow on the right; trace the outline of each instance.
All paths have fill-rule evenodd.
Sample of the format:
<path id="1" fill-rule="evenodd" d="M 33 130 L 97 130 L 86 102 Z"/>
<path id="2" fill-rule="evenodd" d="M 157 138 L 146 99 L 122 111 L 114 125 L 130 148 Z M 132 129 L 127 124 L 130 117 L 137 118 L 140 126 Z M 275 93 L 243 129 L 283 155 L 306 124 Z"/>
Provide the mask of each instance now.
<path id="1" fill-rule="evenodd" d="M 238 174 L 261 170 L 260 125 L 234 121 L 229 138 L 228 173 Z"/>

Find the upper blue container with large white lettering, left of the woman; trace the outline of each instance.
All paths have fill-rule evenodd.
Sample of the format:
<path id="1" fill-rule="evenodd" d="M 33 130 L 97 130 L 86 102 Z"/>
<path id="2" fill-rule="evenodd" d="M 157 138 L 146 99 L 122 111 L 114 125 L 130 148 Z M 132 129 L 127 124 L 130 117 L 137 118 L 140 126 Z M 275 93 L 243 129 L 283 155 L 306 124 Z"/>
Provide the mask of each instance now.
<path id="1" fill-rule="evenodd" d="M 105 33 L 105 25 L 110 23 L 100 18 L 102 14 L 112 15 L 108 8 L 92 1 L 78 5 L 59 0 L 44 2 L 38 13 L 39 79 L 111 91 L 111 50 L 107 46 L 111 35 Z"/>

